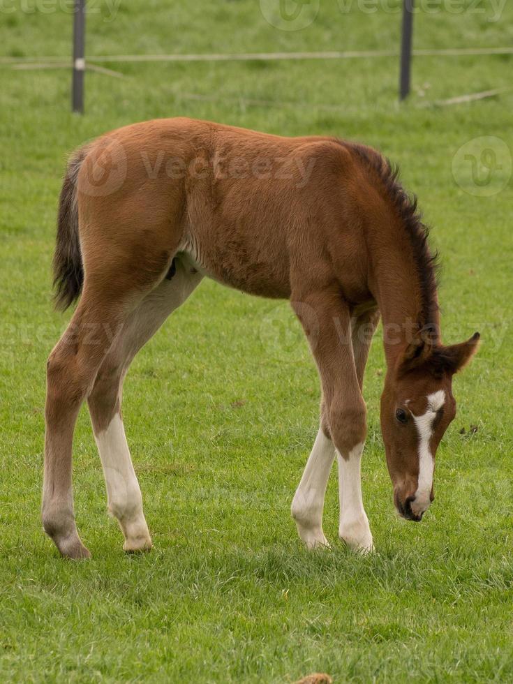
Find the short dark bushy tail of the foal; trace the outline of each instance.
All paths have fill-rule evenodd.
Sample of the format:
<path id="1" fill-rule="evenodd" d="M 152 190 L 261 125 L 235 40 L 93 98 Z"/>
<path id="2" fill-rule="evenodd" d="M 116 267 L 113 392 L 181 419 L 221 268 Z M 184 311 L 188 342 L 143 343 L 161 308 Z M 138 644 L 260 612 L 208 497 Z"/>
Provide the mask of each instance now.
<path id="1" fill-rule="evenodd" d="M 64 311 L 78 299 L 84 282 L 78 239 L 77 176 L 86 153 L 85 149 L 80 149 L 70 159 L 59 199 L 53 271 L 55 308 L 60 311 Z"/>

